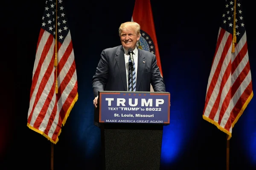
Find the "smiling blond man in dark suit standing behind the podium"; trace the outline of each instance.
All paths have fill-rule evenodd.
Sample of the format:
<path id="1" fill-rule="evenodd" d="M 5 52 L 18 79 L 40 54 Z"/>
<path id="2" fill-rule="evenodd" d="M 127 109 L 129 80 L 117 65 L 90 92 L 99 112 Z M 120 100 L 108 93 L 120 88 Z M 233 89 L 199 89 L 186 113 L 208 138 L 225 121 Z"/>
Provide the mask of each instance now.
<path id="1" fill-rule="evenodd" d="M 119 37 L 122 45 L 104 49 L 93 76 L 93 104 L 97 107 L 99 91 L 128 91 L 129 58 L 128 49 L 133 50 L 135 66 L 135 91 L 150 92 L 152 85 L 155 92 L 165 92 L 165 84 L 157 66 L 156 56 L 137 48 L 140 39 L 140 25 L 136 22 L 122 23 Z"/>

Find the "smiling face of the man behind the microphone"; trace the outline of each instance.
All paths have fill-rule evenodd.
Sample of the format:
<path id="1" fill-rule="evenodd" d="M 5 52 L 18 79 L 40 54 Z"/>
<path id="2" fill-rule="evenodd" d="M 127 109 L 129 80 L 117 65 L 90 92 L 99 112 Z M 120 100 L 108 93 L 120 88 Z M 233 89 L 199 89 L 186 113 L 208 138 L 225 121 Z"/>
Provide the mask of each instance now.
<path id="1" fill-rule="evenodd" d="M 136 32 L 129 27 L 123 30 L 120 34 L 120 40 L 121 40 L 122 46 L 126 50 L 128 50 L 129 48 L 134 49 L 139 39 L 140 39 L 140 36 L 137 36 Z"/>

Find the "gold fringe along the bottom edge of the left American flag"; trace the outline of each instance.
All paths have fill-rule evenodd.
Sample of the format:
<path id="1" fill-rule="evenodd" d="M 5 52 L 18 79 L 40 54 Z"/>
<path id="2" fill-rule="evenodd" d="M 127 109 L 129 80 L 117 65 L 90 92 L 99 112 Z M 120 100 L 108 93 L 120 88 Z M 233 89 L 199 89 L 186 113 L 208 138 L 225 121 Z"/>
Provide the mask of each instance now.
<path id="1" fill-rule="evenodd" d="M 78 93 L 76 93 L 76 97 L 74 98 L 73 102 L 71 103 L 69 109 L 67 109 L 67 114 L 65 115 L 65 118 L 62 121 L 62 127 L 64 126 L 64 124 L 67 121 L 68 116 L 70 115 L 71 109 L 74 107 L 76 101 L 78 100 Z M 34 130 L 35 132 L 43 135 L 44 137 L 46 137 L 49 141 L 51 141 L 53 144 L 56 144 L 58 142 L 58 137 L 56 139 L 56 141 L 53 141 L 52 138 L 50 138 L 47 134 L 45 134 L 44 132 L 42 132 L 41 130 L 36 129 L 35 127 L 32 127 L 29 123 L 27 123 L 27 127 L 29 127 L 29 129 Z M 61 134 L 61 129 L 58 133 L 58 136 Z"/>

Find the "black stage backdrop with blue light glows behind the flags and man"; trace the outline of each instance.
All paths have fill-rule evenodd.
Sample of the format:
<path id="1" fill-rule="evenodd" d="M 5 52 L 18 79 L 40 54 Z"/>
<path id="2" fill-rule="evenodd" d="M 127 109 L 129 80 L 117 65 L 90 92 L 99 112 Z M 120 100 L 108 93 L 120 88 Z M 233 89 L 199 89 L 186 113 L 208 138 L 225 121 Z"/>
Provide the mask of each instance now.
<path id="1" fill-rule="evenodd" d="M 239 0 L 241 2 L 241 0 Z M 78 76 L 79 99 L 59 141 L 55 170 L 97 170 L 100 131 L 93 125 L 91 79 L 103 49 L 120 44 L 119 25 L 130 21 L 134 0 L 64 0 Z M 163 78 L 171 93 L 161 170 L 225 170 L 226 134 L 202 118 L 224 0 L 151 0 Z M 49 170 L 51 143 L 26 127 L 36 44 L 45 0 L 4 2 L 1 10 L 0 169 Z M 256 90 L 255 5 L 244 1 L 253 90 Z M 256 100 L 230 140 L 230 170 L 256 169 Z"/>

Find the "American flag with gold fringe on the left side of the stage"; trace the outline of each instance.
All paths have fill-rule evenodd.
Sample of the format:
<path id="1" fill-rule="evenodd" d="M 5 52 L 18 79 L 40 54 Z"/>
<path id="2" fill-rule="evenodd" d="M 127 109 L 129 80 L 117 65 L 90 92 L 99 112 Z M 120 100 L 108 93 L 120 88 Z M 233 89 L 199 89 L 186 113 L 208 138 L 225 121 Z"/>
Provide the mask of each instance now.
<path id="1" fill-rule="evenodd" d="M 64 4 L 62 0 L 57 4 L 47 0 L 32 73 L 27 126 L 56 144 L 77 100 L 76 63 Z"/>

